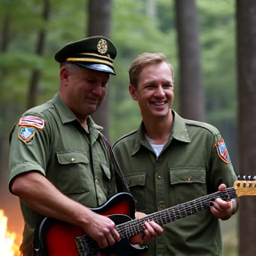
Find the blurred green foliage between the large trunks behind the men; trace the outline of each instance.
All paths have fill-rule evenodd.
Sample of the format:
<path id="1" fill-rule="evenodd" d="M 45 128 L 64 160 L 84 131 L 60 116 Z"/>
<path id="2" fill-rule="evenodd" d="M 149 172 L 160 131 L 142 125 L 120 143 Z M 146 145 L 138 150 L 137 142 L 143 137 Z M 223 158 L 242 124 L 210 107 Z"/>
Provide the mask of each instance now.
<path id="1" fill-rule="evenodd" d="M 141 121 L 137 103 L 128 92 L 128 68 L 141 52 L 163 52 L 172 62 L 176 74 L 172 107 L 180 113 L 180 56 L 175 21 L 178 1 L 112 1 L 109 37 L 117 48 L 117 76 L 111 76 L 108 85 L 106 129 L 111 143 L 136 129 Z M 0 209 L 6 212 L 10 229 L 18 234 L 22 232 L 19 202 L 7 188 L 9 132 L 26 109 L 52 99 L 58 91 L 59 64 L 53 56 L 64 44 L 88 35 L 88 3 L 55 0 L 50 5 L 49 0 L 0 0 Z M 203 121 L 219 128 L 239 173 L 236 2 L 197 0 L 196 20 L 198 28 L 192 32 L 199 40 L 204 97 L 192 100 L 195 105 L 196 101 L 205 102 Z M 42 36 L 44 47 L 38 44 Z M 30 85 L 35 81 L 36 92 L 31 92 Z M 194 79 L 189 85 L 196 88 Z M 237 219 L 236 216 L 221 222 L 225 255 L 238 255 Z"/>

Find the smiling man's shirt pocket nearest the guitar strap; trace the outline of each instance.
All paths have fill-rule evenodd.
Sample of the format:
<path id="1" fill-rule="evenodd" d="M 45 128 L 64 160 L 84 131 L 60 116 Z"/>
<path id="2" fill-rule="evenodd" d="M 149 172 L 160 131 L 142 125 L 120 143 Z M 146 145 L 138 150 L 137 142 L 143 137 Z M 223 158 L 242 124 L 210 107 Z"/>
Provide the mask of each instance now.
<path id="1" fill-rule="evenodd" d="M 132 196 L 140 204 L 136 204 L 136 210 L 140 212 L 146 211 L 146 172 L 135 172 L 124 175 L 124 179 L 128 183 L 128 187 Z"/>

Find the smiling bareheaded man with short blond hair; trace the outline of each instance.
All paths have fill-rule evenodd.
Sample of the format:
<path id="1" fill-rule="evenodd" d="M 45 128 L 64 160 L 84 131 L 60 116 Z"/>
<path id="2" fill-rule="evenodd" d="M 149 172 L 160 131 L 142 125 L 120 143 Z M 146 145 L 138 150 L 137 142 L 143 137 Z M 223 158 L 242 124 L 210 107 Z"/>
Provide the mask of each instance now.
<path id="1" fill-rule="evenodd" d="M 142 255 L 220 256 L 219 219 L 228 220 L 236 212 L 236 199 L 217 198 L 206 205 L 205 199 L 201 204 L 189 202 L 232 187 L 236 180 L 220 132 L 211 124 L 184 119 L 172 109 L 174 72 L 163 53 L 140 54 L 129 77 L 129 92 L 139 104 L 142 122 L 116 140 L 113 149 L 136 209 L 149 216 L 157 212 L 157 223 L 166 224 Z M 183 205 L 167 211 L 177 204 Z M 203 207 L 207 209 L 201 212 Z"/>

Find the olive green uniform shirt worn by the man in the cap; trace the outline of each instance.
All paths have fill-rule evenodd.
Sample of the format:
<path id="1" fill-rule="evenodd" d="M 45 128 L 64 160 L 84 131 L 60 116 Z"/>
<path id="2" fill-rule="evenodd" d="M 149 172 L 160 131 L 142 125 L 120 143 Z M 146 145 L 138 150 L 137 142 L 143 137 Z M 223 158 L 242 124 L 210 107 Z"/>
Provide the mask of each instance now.
<path id="1" fill-rule="evenodd" d="M 23 116 L 39 116 L 45 124 L 43 129 L 32 128 L 36 133 L 28 142 L 20 140 L 20 125 L 14 125 L 10 135 L 10 189 L 17 175 L 32 171 L 41 173 L 64 195 L 90 208 L 104 204 L 116 193 L 108 148 L 100 136 L 102 127 L 94 124 L 90 117 L 88 133 L 59 94 Z M 21 200 L 20 206 L 26 245 L 31 242 L 36 222 L 42 216 Z"/>

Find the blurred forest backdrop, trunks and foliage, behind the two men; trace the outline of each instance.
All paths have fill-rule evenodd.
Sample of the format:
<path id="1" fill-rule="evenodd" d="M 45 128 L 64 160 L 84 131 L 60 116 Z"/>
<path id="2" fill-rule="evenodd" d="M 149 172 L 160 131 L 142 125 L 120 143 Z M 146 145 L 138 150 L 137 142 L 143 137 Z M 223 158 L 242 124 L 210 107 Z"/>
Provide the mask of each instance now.
<path id="1" fill-rule="evenodd" d="M 254 175 L 255 3 L 0 0 L 0 209 L 7 212 L 10 228 L 22 232 L 18 199 L 7 188 L 9 132 L 27 108 L 50 100 L 58 91 L 55 52 L 86 36 L 107 36 L 117 48 L 117 76 L 111 76 L 104 105 L 93 115 L 95 122 L 104 126 L 111 143 L 140 124 L 140 110 L 128 92 L 132 60 L 141 52 L 163 52 L 175 70 L 173 108 L 181 116 L 217 126 L 236 172 Z M 239 239 L 244 245 L 239 254 L 239 214 L 223 222 L 225 255 L 254 255 L 253 229 L 247 254 L 244 249 L 248 237 L 244 227 L 256 225 L 256 209 L 252 206 L 256 204 L 252 200 L 241 198 L 244 209 L 240 211 L 243 224 Z M 249 226 L 244 225 L 246 221 Z"/>

